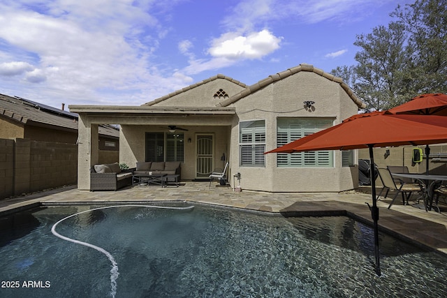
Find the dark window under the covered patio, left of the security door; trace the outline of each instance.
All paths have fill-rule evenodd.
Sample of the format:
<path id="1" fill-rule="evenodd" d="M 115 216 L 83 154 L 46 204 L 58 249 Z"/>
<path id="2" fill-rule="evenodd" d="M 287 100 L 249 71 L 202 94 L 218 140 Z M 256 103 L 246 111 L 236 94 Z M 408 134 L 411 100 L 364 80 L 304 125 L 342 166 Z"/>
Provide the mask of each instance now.
<path id="1" fill-rule="evenodd" d="M 146 133 L 146 161 L 184 162 L 184 134 Z"/>

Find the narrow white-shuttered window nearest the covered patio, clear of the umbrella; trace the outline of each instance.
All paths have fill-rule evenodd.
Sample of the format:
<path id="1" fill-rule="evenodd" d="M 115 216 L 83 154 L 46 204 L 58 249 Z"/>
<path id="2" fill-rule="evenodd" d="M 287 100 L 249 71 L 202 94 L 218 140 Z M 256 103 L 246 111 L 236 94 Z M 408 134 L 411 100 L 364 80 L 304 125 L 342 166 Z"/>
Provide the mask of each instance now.
<path id="1" fill-rule="evenodd" d="M 242 121 L 239 124 L 240 165 L 263 167 L 265 120 Z"/>

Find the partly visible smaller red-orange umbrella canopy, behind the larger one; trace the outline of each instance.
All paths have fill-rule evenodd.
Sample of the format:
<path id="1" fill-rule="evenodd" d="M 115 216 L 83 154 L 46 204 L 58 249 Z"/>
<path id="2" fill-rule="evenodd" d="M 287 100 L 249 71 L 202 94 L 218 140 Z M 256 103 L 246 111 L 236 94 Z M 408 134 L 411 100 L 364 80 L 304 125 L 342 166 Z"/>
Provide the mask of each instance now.
<path id="1" fill-rule="evenodd" d="M 393 114 L 423 114 L 447 116 L 446 94 L 422 94 L 409 102 L 388 110 Z"/>

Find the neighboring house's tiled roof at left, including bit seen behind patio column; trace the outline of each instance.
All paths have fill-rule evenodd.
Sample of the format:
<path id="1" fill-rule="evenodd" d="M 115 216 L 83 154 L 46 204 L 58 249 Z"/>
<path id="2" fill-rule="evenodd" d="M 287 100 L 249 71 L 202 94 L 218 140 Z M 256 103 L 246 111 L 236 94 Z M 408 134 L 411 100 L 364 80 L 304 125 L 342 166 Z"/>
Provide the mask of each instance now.
<path id="1" fill-rule="evenodd" d="M 78 131 L 78 114 L 20 97 L 0 94 L 0 115 L 25 125 Z M 101 126 L 99 133 L 119 137 L 119 130 L 112 126 Z"/>

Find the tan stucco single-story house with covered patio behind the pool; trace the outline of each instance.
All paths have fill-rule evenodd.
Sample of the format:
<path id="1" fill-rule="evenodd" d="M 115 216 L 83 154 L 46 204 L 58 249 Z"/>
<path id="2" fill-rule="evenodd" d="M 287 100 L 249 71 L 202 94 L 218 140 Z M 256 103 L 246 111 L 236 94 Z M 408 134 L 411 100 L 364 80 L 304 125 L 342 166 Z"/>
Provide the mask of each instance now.
<path id="1" fill-rule="evenodd" d="M 300 64 L 247 86 L 216 75 L 140 106 L 71 105 L 79 114 L 78 188 L 98 162 L 98 125 L 119 124 L 119 162 L 181 161 L 182 179 L 228 181 L 267 192 L 344 191 L 358 184 L 356 151 L 267 154 L 339 124 L 365 105 L 339 77 Z M 82 156 L 82 158 L 81 158 Z"/>

